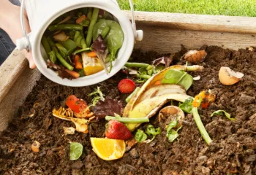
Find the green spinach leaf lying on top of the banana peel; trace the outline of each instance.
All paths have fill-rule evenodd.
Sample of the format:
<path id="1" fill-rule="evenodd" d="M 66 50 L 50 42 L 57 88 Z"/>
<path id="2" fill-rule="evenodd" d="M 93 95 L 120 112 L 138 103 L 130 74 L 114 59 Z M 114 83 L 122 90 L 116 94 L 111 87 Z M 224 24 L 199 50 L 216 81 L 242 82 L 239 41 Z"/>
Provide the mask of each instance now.
<path id="1" fill-rule="evenodd" d="M 175 69 L 170 69 L 165 74 L 164 79 L 162 79 L 162 84 L 175 84 L 181 85 L 186 90 L 190 88 L 193 83 L 193 77 L 185 71 L 178 71 Z"/>

